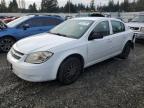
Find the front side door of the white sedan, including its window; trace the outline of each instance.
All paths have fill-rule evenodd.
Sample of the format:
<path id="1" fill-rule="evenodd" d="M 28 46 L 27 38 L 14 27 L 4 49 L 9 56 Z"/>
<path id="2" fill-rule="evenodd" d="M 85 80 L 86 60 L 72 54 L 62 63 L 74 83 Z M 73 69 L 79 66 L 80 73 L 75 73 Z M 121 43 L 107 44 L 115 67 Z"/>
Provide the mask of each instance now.
<path id="1" fill-rule="evenodd" d="M 89 40 L 88 43 L 88 63 L 95 64 L 96 62 L 103 61 L 110 57 L 111 50 L 113 50 L 111 49 L 112 39 L 109 21 L 100 22 L 92 32 L 103 36 L 99 39 Z M 92 36 L 92 34 L 90 36 Z"/>

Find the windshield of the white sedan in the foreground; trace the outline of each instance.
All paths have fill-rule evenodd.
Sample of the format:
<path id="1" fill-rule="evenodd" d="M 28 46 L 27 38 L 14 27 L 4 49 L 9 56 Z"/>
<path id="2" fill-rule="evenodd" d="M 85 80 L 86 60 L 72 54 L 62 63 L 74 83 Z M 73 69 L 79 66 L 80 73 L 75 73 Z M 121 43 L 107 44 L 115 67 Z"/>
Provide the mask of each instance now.
<path id="1" fill-rule="evenodd" d="M 50 30 L 49 33 L 79 39 L 89 29 L 91 20 L 67 20 L 64 23 Z"/>

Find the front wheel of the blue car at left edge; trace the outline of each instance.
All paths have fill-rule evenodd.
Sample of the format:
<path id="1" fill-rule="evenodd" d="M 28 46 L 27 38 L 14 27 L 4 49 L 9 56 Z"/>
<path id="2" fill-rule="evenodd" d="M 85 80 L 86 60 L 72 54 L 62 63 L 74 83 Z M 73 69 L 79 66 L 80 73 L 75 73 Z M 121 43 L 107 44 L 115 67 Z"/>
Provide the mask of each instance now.
<path id="1" fill-rule="evenodd" d="M 3 37 L 0 39 L 0 51 L 1 52 L 8 52 L 12 45 L 16 42 L 15 39 L 12 37 Z"/>

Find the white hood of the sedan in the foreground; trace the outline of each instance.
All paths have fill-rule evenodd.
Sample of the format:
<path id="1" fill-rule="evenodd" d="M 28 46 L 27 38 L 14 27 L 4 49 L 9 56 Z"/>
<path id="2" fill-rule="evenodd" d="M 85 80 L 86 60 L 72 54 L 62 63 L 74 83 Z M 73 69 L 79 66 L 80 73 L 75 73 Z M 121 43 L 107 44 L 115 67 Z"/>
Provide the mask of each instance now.
<path id="1" fill-rule="evenodd" d="M 24 54 L 29 54 L 35 51 L 50 50 L 56 46 L 63 45 L 67 42 L 76 39 L 53 35 L 49 33 L 42 33 L 32 37 L 28 37 L 18 41 L 14 48 Z"/>

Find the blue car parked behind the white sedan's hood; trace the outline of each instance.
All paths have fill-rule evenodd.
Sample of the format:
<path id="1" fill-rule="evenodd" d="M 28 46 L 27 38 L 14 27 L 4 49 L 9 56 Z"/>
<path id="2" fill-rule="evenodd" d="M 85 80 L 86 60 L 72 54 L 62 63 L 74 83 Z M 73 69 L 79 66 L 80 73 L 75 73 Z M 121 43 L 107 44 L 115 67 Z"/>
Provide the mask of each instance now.
<path id="1" fill-rule="evenodd" d="M 57 16 L 27 15 L 20 17 L 0 30 L 0 50 L 7 52 L 17 40 L 47 32 L 63 21 L 63 18 Z"/>

